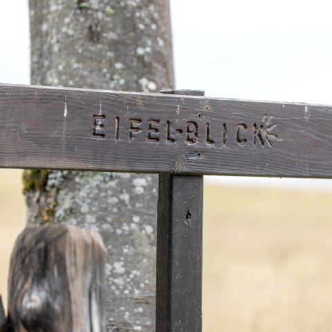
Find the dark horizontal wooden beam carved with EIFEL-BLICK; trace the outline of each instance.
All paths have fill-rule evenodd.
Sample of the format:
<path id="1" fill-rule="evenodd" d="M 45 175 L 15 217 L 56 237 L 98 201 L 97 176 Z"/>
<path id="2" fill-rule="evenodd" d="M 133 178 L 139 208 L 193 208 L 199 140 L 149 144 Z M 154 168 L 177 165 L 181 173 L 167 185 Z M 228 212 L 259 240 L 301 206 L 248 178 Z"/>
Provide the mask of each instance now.
<path id="1" fill-rule="evenodd" d="M 0 167 L 332 177 L 332 107 L 0 85 Z"/>

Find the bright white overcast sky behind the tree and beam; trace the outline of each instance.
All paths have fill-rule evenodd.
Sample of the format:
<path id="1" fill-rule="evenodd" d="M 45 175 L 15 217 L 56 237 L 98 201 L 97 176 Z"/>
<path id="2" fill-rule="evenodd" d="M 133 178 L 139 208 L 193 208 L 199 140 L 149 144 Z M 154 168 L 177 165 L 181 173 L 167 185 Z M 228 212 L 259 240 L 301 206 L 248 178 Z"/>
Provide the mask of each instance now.
<path id="1" fill-rule="evenodd" d="M 330 3 L 171 0 L 176 86 L 223 98 L 332 104 Z M 28 32 L 28 1 L 1 1 L 0 82 L 29 84 Z M 329 180 L 219 181 L 332 189 Z"/>

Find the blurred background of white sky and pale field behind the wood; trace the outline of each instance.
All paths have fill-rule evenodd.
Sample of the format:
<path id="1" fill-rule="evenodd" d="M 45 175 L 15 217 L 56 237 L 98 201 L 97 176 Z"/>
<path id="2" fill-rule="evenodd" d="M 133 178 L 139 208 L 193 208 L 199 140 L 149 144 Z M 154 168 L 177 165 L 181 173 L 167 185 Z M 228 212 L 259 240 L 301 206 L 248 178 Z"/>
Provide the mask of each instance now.
<path id="1" fill-rule="evenodd" d="M 171 0 L 177 88 L 332 104 L 329 1 Z M 29 84 L 28 1 L 0 8 L 0 82 Z M 0 294 L 24 227 L 0 170 Z M 205 177 L 203 331 L 330 331 L 331 180 Z M 331 205 L 330 205 L 331 204 Z"/>

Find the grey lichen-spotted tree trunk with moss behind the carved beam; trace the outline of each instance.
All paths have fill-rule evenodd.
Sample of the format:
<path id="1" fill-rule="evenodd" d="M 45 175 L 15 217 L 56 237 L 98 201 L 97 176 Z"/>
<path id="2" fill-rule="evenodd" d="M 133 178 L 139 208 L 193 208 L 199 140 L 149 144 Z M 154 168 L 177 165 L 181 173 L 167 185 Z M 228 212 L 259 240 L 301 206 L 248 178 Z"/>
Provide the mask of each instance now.
<path id="1" fill-rule="evenodd" d="M 29 3 L 33 85 L 174 87 L 168 0 Z M 155 175 L 24 173 L 29 224 L 61 222 L 102 234 L 107 331 L 155 329 L 157 186 Z"/>

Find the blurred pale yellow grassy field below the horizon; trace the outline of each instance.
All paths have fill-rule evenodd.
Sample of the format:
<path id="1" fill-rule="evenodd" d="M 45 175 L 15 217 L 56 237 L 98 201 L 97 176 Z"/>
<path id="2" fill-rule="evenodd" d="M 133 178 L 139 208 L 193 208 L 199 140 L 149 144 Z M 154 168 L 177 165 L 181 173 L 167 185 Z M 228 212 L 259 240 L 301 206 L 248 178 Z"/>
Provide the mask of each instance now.
<path id="1" fill-rule="evenodd" d="M 0 170 L 0 293 L 24 227 Z M 332 331 L 332 192 L 205 186 L 203 331 Z"/>

